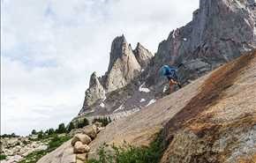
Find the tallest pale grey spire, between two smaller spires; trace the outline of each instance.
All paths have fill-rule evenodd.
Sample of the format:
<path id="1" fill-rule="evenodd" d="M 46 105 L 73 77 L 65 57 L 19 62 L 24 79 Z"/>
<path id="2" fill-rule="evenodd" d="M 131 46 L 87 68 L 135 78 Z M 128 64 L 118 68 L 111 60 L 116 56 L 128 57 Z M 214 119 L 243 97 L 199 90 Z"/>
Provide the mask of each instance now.
<path id="1" fill-rule="evenodd" d="M 139 75 L 140 70 L 131 45 L 127 43 L 124 35 L 117 37 L 112 42 L 109 69 L 104 80 L 107 92 L 124 87 Z"/>

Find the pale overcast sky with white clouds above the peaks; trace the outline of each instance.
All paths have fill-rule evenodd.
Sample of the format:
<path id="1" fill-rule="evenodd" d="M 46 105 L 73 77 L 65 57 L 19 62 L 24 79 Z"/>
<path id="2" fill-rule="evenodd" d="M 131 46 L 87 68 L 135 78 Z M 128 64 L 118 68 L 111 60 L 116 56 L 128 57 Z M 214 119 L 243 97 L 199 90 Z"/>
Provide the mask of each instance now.
<path id="1" fill-rule="evenodd" d="M 199 0 L 1 0 L 1 130 L 26 135 L 79 113 L 90 74 L 124 33 L 156 52 Z"/>

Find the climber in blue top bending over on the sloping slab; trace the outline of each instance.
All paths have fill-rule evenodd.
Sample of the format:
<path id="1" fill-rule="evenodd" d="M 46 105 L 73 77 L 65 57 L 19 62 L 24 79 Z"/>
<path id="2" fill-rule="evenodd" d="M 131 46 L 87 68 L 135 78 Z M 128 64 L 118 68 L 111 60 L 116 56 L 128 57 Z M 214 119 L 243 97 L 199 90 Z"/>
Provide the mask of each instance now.
<path id="1" fill-rule="evenodd" d="M 177 81 L 177 68 L 169 65 L 164 65 L 161 68 L 161 74 L 169 80 L 169 90 L 171 90 L 172 85 L 177 85 L 181 88 L 180 83 Z"/>

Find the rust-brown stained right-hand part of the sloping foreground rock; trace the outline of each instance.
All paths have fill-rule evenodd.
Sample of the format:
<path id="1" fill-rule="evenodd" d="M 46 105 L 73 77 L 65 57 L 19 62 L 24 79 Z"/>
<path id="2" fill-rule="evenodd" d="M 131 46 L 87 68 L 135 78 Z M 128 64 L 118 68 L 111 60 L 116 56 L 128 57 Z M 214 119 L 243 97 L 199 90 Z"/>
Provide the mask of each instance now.
<path id="1" fill-rule="evenodd" d="M 256 51 L 215 70 L 164 128 L 162 163 L 256 161 Z"/>

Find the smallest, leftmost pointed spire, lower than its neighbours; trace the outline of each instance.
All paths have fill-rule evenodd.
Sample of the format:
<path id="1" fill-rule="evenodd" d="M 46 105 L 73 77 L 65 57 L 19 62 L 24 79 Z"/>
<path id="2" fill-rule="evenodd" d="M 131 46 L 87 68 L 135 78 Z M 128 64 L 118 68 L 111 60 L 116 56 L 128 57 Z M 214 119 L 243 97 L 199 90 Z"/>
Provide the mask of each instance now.
<path id="1" fill-rule="evenodd" d="M 90 85 L 86 91 L 86 98 L 84 100 L 83 108 L 91 107 L 98 100 L 105 98 L 105 90 L 99 82 L 96 72 L 91 75 Z"/>

